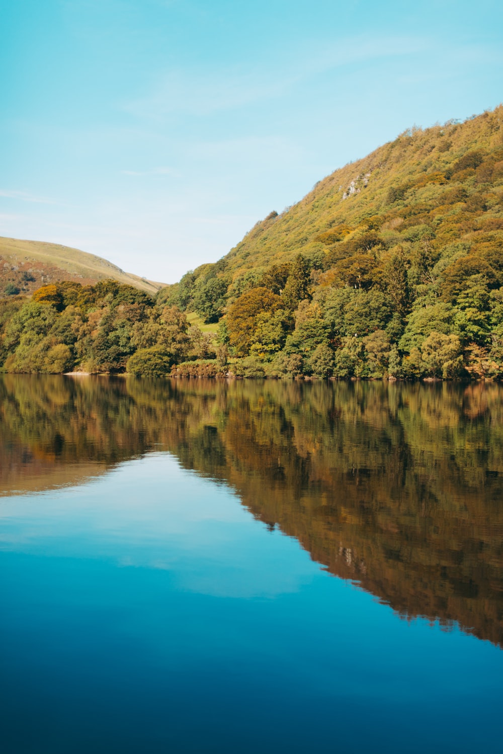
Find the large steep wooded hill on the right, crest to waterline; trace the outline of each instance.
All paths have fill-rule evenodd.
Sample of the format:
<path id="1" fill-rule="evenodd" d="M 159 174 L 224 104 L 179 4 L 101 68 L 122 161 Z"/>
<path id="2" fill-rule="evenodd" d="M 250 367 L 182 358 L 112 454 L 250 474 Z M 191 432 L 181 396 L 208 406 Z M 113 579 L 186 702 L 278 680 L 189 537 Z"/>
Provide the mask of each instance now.
<path id="1" fill-rule="evenodd" d="M 502 121 L 407 130 L 161 298 L 220 322 L 245 374 L 499 375 Z"/>

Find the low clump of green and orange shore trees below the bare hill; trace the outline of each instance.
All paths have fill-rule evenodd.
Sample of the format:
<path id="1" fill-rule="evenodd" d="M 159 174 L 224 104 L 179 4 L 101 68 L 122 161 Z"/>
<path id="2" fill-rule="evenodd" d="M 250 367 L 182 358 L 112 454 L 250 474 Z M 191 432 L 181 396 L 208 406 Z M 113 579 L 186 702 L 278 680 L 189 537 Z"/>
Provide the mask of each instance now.
<path id="1" fill-rule="evenodd" d="M 3 372 L 160 376 L 174 364 L 217 356 L 211 335 L 174 306 L 115 280 L 47 285 L 0 302 Z M 224 357 L 225 360 L 225 357 Z M 216 362 L 215 362 L 216 363 Z"/>

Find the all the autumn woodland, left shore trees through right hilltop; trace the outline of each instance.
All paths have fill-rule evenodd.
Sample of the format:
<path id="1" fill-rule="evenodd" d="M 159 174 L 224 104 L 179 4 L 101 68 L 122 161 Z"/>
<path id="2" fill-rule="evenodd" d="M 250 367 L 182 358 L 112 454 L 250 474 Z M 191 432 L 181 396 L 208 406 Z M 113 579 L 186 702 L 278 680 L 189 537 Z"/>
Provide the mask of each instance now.
<path id="1" fill-rule="evenodd" d="M 44 279 L 31 300 L 12 284 L 0 369 L 500 379 L 502 121 L 402 133 L 155 298 L 128 280 Z"/>

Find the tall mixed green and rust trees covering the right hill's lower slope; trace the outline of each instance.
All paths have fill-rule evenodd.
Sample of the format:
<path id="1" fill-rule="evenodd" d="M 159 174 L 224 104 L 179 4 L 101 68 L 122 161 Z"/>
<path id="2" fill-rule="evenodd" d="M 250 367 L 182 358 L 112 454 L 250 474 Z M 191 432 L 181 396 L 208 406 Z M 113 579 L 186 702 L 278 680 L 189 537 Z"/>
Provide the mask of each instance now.
<path id="1" fill-rule="evenodd" d="M 218 327 L 236 374 L 498 378 L 503 241 L 435 251 L 426 226 L 407 238 L 389 248 L 376 231 L 362 233 L 340 244 L 341 259 L 299 254 L 248 279 Z"/>

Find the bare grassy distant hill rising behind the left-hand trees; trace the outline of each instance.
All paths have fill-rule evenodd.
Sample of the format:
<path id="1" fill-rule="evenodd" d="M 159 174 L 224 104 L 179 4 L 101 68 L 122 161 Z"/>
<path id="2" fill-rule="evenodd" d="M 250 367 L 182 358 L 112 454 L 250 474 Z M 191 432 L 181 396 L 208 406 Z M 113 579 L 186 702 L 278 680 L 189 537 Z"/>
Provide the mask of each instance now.
<path id="1" fill-rule="evenodd" d="M 99 280 L 113 278 L 151 295 L 163 283 L 124 272 L 116 265 L 79 249 L 44 241 L 20 241 L 17 238 L 0 238 L 0 296 L 14 292 L 32 293 L 42 285 L 58 280 L 75 280 L 83 285 L 93 285 Z"/>

